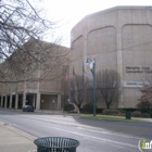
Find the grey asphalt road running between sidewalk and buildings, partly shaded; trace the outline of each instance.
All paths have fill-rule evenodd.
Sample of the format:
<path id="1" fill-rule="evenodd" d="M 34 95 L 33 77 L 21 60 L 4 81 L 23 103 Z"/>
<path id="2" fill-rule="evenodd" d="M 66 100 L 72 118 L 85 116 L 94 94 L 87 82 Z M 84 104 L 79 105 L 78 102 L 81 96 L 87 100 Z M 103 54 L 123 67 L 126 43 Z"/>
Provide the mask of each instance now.
<path id="1" fill-rule="evenodd" d="M 77 139 L 80 141 L 77 152 L 139 152 L 140 139 L 152 140 L 150 123 L 91 121 L 78 116 L 23 113 L 2 109 L 0 122 L 38 138 Z"/>

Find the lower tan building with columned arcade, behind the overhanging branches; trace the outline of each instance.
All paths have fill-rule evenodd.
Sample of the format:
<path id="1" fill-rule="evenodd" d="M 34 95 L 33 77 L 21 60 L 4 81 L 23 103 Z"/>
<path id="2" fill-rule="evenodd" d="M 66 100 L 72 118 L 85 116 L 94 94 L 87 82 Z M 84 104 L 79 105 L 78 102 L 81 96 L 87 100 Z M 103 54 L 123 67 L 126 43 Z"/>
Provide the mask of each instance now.
<path id="1" fill-rule="evenodd" d="M 18 83 L 1 83 L 0 84 L 0 105 L 8 109 L 22 109 L 24 105 L 34 105 L 36 110 L 61 110 L 63 107 L 63 85 L 65 77 L 65 68 L 68 68 L 68 51 L 66 47 L 52 45 L 49 42 L 40 41 L 45 47 L 48 47 L 48 59 L 46 60 L 47 67 L 40 67 L 34 73 L 27 73 L 26 77 L 31 80 Z M 29 47 L 28 41 L 25 46 Z M 31 49 L 34 49 L 34 45 Z M 36 48 L 40 50 L 40 48 Z M 54 52 L 53 55 L 60 56 L 60 61 L 52 61 L 49 53 Z M 60 54 L 59 54 L 60 53 Z M 39 54 L 39 53 L 38 53 Z M 50 68 L 49 68 L 50 67 Z M 24 75 L 24 74 L 23 74 Z M 45 77 L 41 78 L 41 76 Z M 21 75 L 22 76 L 22 75 Z M 29 79 L 30 79 L 29 78 Z M 33 80 L 34 79 L 34 80 Z"/>

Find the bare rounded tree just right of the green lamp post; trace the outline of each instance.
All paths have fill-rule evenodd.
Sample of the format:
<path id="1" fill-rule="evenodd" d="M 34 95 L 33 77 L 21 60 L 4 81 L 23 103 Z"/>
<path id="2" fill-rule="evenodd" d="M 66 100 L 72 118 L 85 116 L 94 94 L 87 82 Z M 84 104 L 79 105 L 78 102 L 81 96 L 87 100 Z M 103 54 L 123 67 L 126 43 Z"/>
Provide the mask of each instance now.
<path id="1" fill-rule="evenodd" d="M 97 73 L 97 88 L 99 89 L 106 107 L 118 100 L 121 94 L 121 77 L 116 71 L 104 69 Z"/>

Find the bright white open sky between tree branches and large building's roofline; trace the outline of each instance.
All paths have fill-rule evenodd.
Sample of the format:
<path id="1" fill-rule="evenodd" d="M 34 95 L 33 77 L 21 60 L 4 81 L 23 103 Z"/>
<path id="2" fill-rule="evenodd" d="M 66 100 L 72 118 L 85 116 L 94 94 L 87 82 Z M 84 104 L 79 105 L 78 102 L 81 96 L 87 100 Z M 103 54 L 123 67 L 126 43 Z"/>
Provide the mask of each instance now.
<path id="1" fill-rule="evenodd" d="M 72 28 L 86 15 L 117 5 L 151 5 L 152 0 L 39 0 L 46 17 L 58 23 L 56 36 L 63 46 L 71 46 Z"/>

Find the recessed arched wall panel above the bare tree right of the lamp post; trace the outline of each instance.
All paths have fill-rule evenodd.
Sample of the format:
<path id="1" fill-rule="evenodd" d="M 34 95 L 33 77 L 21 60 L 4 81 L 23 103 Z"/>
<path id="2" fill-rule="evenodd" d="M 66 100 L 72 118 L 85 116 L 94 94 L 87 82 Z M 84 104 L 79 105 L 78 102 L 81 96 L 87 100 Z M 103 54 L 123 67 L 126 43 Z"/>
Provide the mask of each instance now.
<path id="1" fill-rule="evenodd" d="M 97 71 L 102 68 L 115 68 L 117 65 L 116 54 L 116 29 L 104 27 L 91 30 L 88 34 L 87 55 L 96 56 Z"/>

